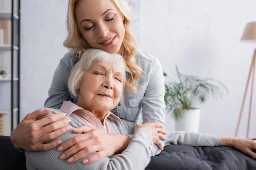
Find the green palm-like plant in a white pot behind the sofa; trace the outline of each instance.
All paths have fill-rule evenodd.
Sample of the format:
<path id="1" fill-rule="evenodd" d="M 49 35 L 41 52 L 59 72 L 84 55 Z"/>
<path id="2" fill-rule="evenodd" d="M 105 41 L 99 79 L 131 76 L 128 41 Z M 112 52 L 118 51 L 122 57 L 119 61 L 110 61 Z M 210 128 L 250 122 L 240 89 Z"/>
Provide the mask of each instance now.
<path id="1" fill-rule="evenodd" d="M 207 102 L 211 97 L 221 98 L 222 90 L 227 88 L 214 79 L 198 79 L 198 77 L 184 75 L 178 71 L 179 82 L 165 83 L 166 111 L 175 118 L 175 130 L 198 132 L 200 109 L 198 105 Z M 166 73 L 163 73 L 167 77 Z"/>

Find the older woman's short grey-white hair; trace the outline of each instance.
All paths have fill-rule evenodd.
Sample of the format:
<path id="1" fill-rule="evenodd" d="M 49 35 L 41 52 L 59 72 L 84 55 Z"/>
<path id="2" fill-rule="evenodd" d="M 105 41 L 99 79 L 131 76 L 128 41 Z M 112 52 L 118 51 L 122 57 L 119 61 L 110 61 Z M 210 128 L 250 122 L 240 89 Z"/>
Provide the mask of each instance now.
<path id="1" fill-rule="evenodd" d="M 123 86 L 125 85 L 125 61 L 123 57 L 119 54 L 109 54 L 99 49 L 90 48 L 83 52 L 81 59 L 73 67 L 68 80 L 68 88 L 75 97 L 79 94 L 79 85 L 84 73 L 96 62 L 109 63 L 113 70 L 122 68 Z"/>

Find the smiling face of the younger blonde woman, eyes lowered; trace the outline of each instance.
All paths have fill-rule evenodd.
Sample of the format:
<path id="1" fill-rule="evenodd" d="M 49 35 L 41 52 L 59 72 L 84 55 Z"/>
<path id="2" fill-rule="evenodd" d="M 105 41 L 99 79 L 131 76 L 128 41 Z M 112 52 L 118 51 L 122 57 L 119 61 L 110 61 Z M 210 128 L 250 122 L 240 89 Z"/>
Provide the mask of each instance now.
<path id="1" fill-rule="evenodd" d="M 123 15 L 112 0 L 78 0 L 76 23 L 91 47 L 121 54 L 125 36 Z"/>

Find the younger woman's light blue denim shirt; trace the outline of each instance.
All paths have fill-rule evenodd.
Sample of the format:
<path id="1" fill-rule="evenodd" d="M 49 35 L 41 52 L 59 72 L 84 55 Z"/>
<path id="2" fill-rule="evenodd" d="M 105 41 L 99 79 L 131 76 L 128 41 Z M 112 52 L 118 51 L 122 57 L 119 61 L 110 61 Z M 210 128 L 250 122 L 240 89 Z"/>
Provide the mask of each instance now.
<path id="1" fill-rule="evenodd" d="M 49 97 L 44 103 L 46 108 L 61 108 L 63 101 L 76 103 L 76 98 L 68 90 L 68 79 L 77 59 L 73 52 L 68 52 L 61 59 L 53 75 L 52 84 L 48 91 Z M 113 111 L 120 119 L 125 119 L 140 124 L 142 115 L 143 123 L 157 122 L 165 126 L 165 86 L 163 70 L 159 60 L 140 50 L 136 54 L 136 63 L 143 70 L 143 74 L 136 84 L 142 86 L 137 93 L 123 91 L 122 99 Z M 130 74 L 126 67 L 126 74 Z M 117 111 L 117 113 L 116 113 Z M 129 135 L 131 139 L 133 135 Z M 164 145 L 164 141 L 162 141 Z M 154 144 L 151 156 L 157 155 L 161 150 Z"/>

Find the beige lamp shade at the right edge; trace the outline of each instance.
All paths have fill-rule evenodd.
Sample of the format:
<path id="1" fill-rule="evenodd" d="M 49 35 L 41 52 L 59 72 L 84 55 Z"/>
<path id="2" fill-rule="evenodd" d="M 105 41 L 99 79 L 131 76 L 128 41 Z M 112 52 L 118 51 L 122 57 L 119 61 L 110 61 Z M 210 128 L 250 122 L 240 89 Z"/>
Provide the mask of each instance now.
<path id="1" fill-rule="evenodd" d="M 246 24 L 241 40 L 247 42 L 256 42 L 256 22 Z"/>

